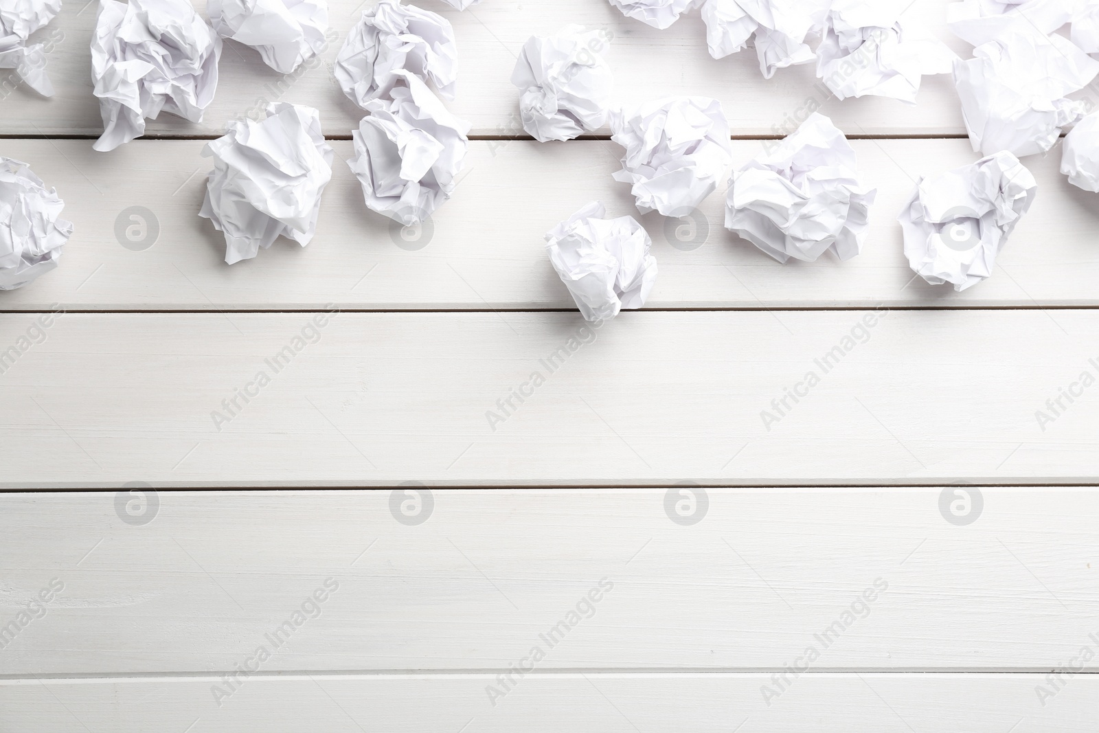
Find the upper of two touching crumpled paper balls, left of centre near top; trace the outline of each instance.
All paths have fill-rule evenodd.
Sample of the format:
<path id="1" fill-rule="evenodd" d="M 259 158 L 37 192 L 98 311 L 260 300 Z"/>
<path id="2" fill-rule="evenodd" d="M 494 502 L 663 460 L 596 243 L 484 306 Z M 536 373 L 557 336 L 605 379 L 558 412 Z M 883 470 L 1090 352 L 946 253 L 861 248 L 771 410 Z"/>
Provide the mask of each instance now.
<path id="1" fill-rule="evenodd" d="M 454 99 L 457 56 L 448 20 L 400 0 L 380 0 L 347 34 L 333 74 L 363 109 L 388 95 L 395 73 L 402 70 L 431 81 L 443 99 Z"/>

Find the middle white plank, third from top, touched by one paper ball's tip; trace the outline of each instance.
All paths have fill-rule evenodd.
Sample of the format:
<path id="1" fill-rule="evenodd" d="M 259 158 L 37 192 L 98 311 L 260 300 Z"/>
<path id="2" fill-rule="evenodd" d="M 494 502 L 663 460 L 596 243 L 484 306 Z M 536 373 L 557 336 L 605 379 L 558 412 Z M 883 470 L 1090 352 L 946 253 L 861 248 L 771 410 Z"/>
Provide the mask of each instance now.
<path id="1" fill-rule="evenodd" d="M 0 486 L 1099 482 L 1091 310 L 318 318 L 7 316 Z"/>

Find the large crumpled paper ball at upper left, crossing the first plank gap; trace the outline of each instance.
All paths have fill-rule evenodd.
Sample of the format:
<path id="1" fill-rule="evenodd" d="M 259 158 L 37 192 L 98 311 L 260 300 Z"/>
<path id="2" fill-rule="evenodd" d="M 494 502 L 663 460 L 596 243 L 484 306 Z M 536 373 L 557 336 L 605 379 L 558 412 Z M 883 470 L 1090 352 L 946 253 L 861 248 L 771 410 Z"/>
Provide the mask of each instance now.
<path id="1" fill-rule="evenodd" d="M 100 0 L 91 79 L 103 134 L 92 147 L 129 143 L 162 111 L 201 122 L 220 56 L 221 38 L 188 0 Z"/>

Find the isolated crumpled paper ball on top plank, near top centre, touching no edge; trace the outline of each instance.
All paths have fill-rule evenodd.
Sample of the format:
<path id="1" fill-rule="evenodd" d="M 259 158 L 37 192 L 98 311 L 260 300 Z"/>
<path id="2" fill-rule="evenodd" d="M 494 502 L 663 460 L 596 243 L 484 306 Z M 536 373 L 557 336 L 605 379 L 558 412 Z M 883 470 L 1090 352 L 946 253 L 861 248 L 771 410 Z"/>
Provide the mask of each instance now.
<path id="1" fill-rule="evenodd" d="M 531 37 L 511 84 L 522 90 L 523 130 L 540 142 L 573 140 L 607 124 L 614 77 L 601 52 L 603 31 L 568 25 L 557 35 Z"/>

